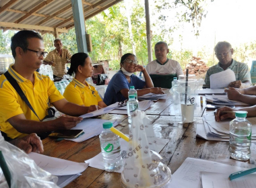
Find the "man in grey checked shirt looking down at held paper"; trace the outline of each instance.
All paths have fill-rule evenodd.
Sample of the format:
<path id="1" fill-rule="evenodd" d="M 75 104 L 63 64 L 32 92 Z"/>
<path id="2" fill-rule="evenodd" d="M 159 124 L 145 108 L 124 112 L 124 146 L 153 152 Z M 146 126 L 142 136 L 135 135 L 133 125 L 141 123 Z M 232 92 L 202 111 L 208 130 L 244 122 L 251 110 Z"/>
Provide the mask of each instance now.
<path id="1" fill-rule="evenodd" d="M 251 86 L 251 74 L 249 68 L 247 64 L 232 59 L 234 50 L 230 43 L 218 42 L 214 51 L 219 62 L 208 69 L 205 75 L 205 85 L 203 85 L 203 88 L 210 88 L 210 75 L 225 71 L 227 68 L 234 71 L 236 77 L 236 81 L 230 83 L 228 87 L 247 88 Z"/>

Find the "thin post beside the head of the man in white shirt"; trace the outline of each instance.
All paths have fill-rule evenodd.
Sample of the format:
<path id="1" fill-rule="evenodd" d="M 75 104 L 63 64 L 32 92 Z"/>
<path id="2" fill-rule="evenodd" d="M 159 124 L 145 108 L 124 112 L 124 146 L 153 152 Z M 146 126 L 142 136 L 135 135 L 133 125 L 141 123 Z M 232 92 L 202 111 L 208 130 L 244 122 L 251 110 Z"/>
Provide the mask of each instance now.
<path id="1" fill-rule="evenodd" d="M 150 40 L 150 6 L 148 0 L 145 0 L 145 13 L 146 13 L 146 30 L 147 30 L 147 44 L 148 44 L 148 62 L 152 62 L 152 48 Z"/>

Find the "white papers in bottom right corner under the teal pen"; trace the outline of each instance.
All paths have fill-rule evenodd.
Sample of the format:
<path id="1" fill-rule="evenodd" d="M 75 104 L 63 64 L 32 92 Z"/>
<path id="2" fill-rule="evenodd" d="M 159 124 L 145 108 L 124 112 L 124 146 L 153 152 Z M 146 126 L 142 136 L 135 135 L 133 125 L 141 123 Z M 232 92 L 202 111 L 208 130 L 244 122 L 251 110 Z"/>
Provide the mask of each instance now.
<path id="1" fill-rule="evenodd" d="M 238 171 L 245 171 L 242 167 L 228 164 L 186 158 L 181 167 L 172 175 L 168 187 L 172 188 L 252 188 L 256 185 L 255 173 L 230 181 L 229 175 Z M 221 173 L 220 173 L 221 172 Z"/>

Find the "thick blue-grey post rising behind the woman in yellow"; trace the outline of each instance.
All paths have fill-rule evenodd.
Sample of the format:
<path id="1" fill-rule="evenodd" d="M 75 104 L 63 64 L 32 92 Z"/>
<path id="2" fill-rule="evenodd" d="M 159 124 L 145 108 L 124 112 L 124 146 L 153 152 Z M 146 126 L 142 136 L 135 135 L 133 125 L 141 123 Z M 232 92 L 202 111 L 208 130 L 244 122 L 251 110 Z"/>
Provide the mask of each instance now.
<path id="1" fill-rule="evenodd" d="M 84 7 L 82 0 L 71 0 L 75 35 L 78 52 L 88 53 L 86 44 L 86 24 L 84 20 Z"/>

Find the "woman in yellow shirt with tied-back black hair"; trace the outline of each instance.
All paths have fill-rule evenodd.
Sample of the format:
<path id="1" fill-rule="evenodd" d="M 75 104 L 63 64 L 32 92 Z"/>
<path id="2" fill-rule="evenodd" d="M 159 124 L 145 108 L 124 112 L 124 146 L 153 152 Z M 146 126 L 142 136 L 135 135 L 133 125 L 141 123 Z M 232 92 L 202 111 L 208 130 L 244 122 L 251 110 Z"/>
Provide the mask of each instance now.
<path id="1" fill-rule="evenodd" d="M 67 101 L 77 105 L 98 105 L 106 107 L 106 104 L 98 95 L 98 91 L 86 82 L 88 77 L 92 77 L 94 66 L 88 54 L 80 52 L 71 57 L 71 66 L 67 72 L 69 75 L 75 73 L 75 78 L 67 85 L 63 96 Z"/>

